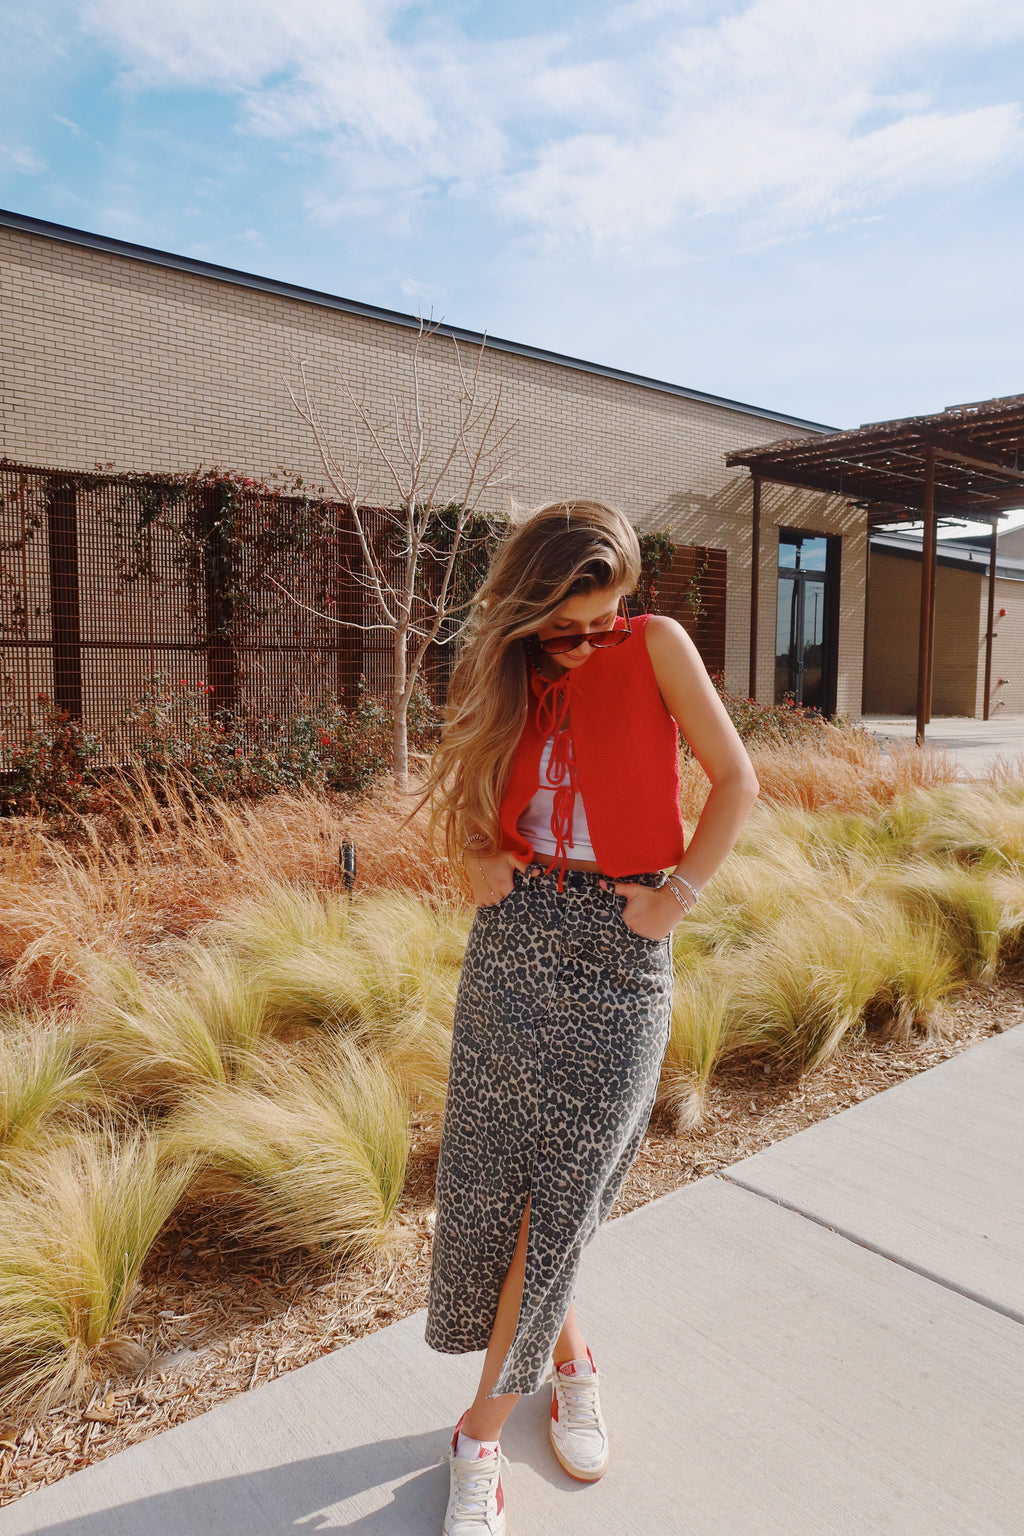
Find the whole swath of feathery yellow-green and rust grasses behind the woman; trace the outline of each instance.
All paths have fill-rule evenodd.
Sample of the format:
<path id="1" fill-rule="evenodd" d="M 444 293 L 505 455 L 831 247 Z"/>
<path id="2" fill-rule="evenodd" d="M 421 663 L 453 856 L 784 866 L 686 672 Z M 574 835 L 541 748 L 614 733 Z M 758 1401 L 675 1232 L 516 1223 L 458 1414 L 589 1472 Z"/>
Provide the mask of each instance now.
<path id="1" fill-rule="evenodd" d="M 672 940 L 659 1100 L 680 1127 L 726 1061 L 795 1077 L 866 1031 L 927 1035 L 955 988 L 1024 962 L 1024 783 L 961 783 L 936 754 L 832 727 L 755 754 L 761 803 Z M 685 760 L 691 826 L 705 793 Z M 183 1200 L 218 1203 L 253 1246 L 387 1249 L 410 1109 L 434 1111 L 430 1130 L 444 1103 L 471 912 L 422 816 L 402 826 L 407 800 L 132 794 L 77 840 L 0 826 L 0 1395 L 17 1415 L 138 1366 L 132 1286 Z"/>

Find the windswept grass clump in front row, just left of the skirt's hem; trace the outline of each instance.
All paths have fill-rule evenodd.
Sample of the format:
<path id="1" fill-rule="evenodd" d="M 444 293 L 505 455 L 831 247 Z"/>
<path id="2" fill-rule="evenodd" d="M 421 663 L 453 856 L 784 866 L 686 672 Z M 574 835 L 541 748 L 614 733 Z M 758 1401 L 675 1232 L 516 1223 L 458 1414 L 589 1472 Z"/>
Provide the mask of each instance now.
<path id="1" fill-rule="evenodd" d="M 335 1040 L 310 1060 L 266 1054 L 247 1084 L 198 1089 L 163 1124 L 173 1166 L 276 1247 L 364 1256 L 387 1241 L 405 1180 L 408 1111 L 384 1063 Z"/>

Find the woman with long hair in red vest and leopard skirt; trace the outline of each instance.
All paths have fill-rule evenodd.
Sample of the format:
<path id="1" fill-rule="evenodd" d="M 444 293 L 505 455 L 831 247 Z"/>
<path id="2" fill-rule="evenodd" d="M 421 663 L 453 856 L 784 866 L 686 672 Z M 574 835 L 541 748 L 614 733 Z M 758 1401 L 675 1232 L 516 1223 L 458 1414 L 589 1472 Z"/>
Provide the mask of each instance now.
<path id="1" fill-rule="evenodd" d="M 505 1530 L 499 1436 L 553 1366 L 562 1467 L 608 1462 L 573 1304 L 654 1104 L 671 932 L 757 796 L 743 745 L 674 619 L 623 613 L 636 533 L 600 501 L 540 507 L 474 601 L 431 765 L 476 915 L 438 1163 L 427 1342 L 487 1350 L 448 1450 L 445 1536 Z M 679 730 L 711 780 L 686 849 Z M 671 869 L 671 874 L 665 874 Z"/>

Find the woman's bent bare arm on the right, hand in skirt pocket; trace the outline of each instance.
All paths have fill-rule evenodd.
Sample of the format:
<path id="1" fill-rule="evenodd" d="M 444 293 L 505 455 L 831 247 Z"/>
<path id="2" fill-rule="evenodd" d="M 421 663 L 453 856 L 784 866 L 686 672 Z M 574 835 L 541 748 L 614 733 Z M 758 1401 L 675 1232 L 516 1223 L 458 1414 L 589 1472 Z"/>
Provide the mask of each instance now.
<path id="1" fill-rule="evenodd" d="M 674 871 L 700 892 L 740 836 L 757 799 L 757 776 L 697 647 L 682 624 L 652 614 L 646 624 L 646 647 L 668 711 L 711 780 L 711 793 L 694 836 Z M 665 937 L 682 917 L 669 891 L 652 891 L 628 882 L 617 882 L 616 891 L 628 897 L 623 917 L 628 917 L 629 928 L 645 932 L 648 938 Z M 685 889 L 680 894 L 688 899 Z"/>

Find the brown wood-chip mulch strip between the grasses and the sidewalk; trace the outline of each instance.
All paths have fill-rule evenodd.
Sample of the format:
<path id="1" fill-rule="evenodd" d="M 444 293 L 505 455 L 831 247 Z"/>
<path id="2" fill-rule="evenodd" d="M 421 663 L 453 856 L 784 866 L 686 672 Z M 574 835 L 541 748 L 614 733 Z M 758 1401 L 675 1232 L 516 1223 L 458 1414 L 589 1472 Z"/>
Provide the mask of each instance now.
<path id="1" fill-rule="evenodd" d="M 904 1046 L 869 1035 L 801 1078 L 726 1066 L 695 1130 L 652 1121 L 613 1220 L 1021 1021 L 1024 980 L 1004 977 L 961 992 L 941 1037 Z M 180 1217 L 149 1258 L 124 1330 L 150 1356 L 146 1372 L 103 1381 L 35 1424 L 0 1424 L 0 1505 L 424 1307 L 438 1134 L 436 1117 L 415 1123 L 395 1241 L 379 1260 L 330 1270 L 304 1252 L 267 1258 L 232 1236 L 223 1207 Z"/>

